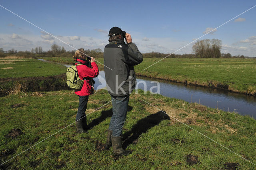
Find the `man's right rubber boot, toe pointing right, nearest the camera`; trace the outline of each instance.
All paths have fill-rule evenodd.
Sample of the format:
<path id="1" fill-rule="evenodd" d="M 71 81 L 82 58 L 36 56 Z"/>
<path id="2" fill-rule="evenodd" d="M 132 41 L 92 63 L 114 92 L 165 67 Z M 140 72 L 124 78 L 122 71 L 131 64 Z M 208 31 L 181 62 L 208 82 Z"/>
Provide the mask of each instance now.
<path id="1" fill-rule="evenodd" d="M 112 140 L 112 147 L 113 152 L 116 156 L 127 156 L 128 154 L 131 154 L 132 151 L 130 150 L 124 150 L 122 148 L 122 136 L 114 137 L 111 135 Z"/>

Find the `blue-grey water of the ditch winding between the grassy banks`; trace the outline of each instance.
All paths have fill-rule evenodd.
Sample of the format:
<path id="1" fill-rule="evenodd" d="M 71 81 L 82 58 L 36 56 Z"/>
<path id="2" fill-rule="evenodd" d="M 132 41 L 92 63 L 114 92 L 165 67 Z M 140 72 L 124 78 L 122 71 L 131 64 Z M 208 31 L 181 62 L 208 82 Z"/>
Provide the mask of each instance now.
<path id="1" fill-rule="evenodd" d="M 39 60 L 45 61 L 42 59 Z M 66 67 L 71 66 L 68 64 L 62 65 Z M 94 78 L 94 80 L 96 82 L 94 84 L 96 90 L 106 87 L 104 71 L 100 71 L 99 76 Z M 142 81 L 146 83 L 146 86 L 142 84 Z M 156 83 L 152 81 L 158 81 L 160 83 L 159 92 L 163 96 L 182 99 L 186 102 L 197 102 L 211 108 L 218 108 L 229 112 L 234 111 L 241 115 L 249 115 L 256 118 L 255 96 L 237 94 L 228 92 L 227 90 L 189 86 L 181 83 L 144 77 L 137 77 L 138 89 L 150 90 L 151 87 L 156 86 Z M 154 88 L 153 92 L 156 92 L 156 90 L 157 89 Z"/>

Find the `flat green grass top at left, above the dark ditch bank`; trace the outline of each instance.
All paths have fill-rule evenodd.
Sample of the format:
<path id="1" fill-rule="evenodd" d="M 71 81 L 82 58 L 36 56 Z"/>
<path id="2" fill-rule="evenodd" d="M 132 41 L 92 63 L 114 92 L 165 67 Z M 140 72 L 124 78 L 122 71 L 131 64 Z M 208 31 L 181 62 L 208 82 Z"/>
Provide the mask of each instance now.
<path id="1" fill-rule="evenodd" d="M 0 78 L 54 76 L 66 73 L 66 69 L 60 64 L 36 59 L 0 59 Z"/>

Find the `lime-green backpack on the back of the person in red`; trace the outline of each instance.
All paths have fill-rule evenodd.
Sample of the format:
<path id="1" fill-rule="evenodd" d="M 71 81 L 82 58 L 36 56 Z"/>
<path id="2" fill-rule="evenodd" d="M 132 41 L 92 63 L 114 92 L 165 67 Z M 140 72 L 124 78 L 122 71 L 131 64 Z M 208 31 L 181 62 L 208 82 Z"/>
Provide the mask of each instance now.
<path id="1" fill-rule="evenodd" d="M 79 65 L 82 65 L 82 64 L 76 64 L 76 66 L 79 66 Z M 84 80 L 81 80 L 78 77 L 78 71 L 76 69 L 76 66 L 75 65 L 70 66 L 67 69 L 67 72 L 66 72 L 67 84 L 68 84 L 68 87 L 70 87 L 73 90 L 81 90 L 82 86 L 84 85 Z"/>

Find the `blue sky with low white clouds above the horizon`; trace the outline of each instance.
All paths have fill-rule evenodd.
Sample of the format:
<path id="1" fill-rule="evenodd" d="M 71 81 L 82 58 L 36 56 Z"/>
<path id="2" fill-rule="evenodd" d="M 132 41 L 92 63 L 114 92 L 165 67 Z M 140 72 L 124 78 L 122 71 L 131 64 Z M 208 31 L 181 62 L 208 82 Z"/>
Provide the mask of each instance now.
<path id="1" fill-rule="evenodd" d="M 108 43 L 118 26 L 132 35 L 141 52 L 172 53 L 256 5 L 255 0 L 193 1 L 0 1 L 0 5 L 58 36 L 74 48 Z M 256 56 L 256 7 L 202 39 L 222 40 L 222 52 Z M 0 48 L 47 51 L 56 43 L 72 48 L 0 7 Z M 192 44 L 176 54 L 192 53 Z"/>

